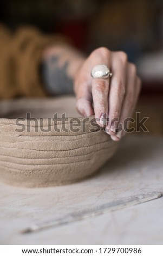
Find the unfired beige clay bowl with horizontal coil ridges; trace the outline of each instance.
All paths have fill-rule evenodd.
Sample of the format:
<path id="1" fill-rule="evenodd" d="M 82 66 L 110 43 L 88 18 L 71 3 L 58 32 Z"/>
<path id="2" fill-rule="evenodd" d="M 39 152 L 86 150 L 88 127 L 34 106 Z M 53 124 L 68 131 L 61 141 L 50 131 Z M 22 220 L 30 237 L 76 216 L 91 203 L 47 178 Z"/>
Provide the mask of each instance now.
<path id="1" fill-rule="evenodd" d="M 74 97 L 0 102 L 0 179 L 8 184 L 76 182 L 95 173 L 117 145 L 93 117 L 79 117 Z"/>

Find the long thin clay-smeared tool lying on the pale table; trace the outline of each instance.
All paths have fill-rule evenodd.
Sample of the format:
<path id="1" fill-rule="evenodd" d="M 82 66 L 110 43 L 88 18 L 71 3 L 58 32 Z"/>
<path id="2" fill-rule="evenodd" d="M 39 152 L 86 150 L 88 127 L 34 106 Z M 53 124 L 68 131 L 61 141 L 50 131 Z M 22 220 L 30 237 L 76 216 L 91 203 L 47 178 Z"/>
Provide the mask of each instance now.
<path id="1" fill-rule="evenodd" d="M 105 214 L 109 211 L 119 210 L 136 204 L 148 202 L 153 199 L 157 199 L 162 196 L 161 192 L 147 192 L 144 194 L 138 194 L 137 196 L 126 197 L 106 204 L 97 205 L 92 208 L 72 212 L 71 214 L 64 215 L 61 218 L 54 218 L 53 220 L 42 221 L 40 223 L 31 225 L 31 227 L 22 231 L 23 234 L 39 231 L 47 228 L 55 228 L 60 225 L 69 224 L 71 222 L 80 221 L 85 218 L 94 217 L 96 215 Z"/>

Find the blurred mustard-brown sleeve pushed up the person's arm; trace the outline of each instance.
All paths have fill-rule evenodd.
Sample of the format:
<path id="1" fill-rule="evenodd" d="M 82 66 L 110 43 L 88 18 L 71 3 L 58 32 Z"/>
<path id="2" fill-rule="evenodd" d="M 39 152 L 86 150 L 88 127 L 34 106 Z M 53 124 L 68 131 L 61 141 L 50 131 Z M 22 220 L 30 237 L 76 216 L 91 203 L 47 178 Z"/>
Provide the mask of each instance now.
<path id="1" fill-rule="evenodd" d="M 44 47 L 64 44 L 61 36 L 45 36 L 34 28 L 11 34 L 0 25 L 0 99 L 17 96 L 43 97 L 40 63 Z"/>

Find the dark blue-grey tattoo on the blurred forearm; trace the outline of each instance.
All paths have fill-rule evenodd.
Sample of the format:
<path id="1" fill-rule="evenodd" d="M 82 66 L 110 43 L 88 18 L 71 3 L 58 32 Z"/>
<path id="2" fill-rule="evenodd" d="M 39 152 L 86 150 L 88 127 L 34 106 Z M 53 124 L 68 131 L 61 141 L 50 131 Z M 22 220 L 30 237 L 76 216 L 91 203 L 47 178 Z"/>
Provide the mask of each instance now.
<path id="1" fill-rule="evenodd" d="M 51 95 L 73 94 L 73 79 L 68 76 L 69 62 L 58 66 L 60 56 L 50 56 L 43 60 L 41 72 L 45 88 Z"/>

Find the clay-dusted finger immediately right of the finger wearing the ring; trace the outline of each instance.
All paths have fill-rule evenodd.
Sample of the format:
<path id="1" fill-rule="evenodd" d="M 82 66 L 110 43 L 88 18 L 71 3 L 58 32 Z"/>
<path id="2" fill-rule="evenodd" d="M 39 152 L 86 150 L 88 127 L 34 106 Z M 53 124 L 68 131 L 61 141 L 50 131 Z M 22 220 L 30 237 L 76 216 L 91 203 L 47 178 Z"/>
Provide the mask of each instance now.
<path id="1" fill-rule="evenodd" d="M 110 81 L 110 90 L 108 96 L 109 102 L 109 121 L 106 132 L 114 141 L 118 141 L 116 131 L 119 126 L 122 102 L 126 93 L 126 68 L 127 55 L 123 52 L 112 53 L 112 71 L 113 77 Z"/>

